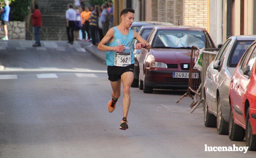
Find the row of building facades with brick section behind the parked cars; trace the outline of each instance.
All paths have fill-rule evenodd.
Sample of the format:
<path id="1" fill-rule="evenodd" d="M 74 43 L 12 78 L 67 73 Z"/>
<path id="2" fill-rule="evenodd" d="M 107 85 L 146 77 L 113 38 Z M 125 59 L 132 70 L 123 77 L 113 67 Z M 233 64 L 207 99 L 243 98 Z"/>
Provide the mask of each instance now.
<path id="1" fill-rule="evenodd" d="M 216 45 L 232 35 L 256 34 L 256 0 L 114 0 L 114 24 L 124 8 L 135 21 L 161 21 L 205 28 Z"/>

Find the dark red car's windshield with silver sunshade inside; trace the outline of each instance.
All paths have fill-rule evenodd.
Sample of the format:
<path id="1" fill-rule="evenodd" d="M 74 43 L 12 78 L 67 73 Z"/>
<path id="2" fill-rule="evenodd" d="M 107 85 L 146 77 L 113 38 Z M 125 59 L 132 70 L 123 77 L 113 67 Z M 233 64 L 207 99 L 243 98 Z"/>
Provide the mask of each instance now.
<path id="1" fill-rule="evenodd" d="M 190 49 L 193 45 L 205 47 L 205 33 L 190 30 L 159 30 L 152 47 L 173 47 Z"/>

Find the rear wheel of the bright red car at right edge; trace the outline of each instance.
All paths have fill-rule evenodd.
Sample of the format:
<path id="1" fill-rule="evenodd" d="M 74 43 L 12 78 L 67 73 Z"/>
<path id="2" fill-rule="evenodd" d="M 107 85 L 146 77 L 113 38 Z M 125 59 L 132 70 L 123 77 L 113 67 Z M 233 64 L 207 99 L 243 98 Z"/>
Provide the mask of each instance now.
<path id="1" fill-rule="evenodd" d="M 256 151 L 256 135 L 253 134 L 251 119 L 250 119 L 249 108 L 246 114 L 246 130 L 245 130 L 245 143 L 248 149 L 251 151 Z"/>

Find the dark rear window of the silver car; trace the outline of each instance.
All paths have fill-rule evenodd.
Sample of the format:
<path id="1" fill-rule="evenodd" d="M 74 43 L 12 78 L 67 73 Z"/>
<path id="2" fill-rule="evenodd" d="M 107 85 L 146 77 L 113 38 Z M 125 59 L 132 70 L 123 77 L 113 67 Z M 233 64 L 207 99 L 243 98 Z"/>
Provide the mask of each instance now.
<path id="1" fill-rule="evenodd" d="M 235 68 L 243 56 L 245 50 L 253 43 L 253 41 L 237 41 L 232 55 L 230 56 L 230 67 Z"/>

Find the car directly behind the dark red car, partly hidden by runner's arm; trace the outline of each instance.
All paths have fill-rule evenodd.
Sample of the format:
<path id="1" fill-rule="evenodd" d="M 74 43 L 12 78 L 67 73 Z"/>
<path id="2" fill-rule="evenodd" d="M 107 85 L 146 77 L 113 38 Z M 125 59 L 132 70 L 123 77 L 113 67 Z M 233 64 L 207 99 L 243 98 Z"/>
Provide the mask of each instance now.
<path id="1" fill-rule="evenodd" d="M 144 38 L 145 40 L 147 40 L 148 35 L 150 33 L 150 31 L 154 28 L 155 25 L 146 25 L 146 26 L 142 26 L 138 32 L 138 34 L 140 34 L 140 36 L 142 38 Z M 141 49 L 135 49 L 136 44 L 138 43 L 137 40 L 133 41 L 133 54 L 134 54 L 134 70 L 133 70 L 133 82 L 131 84 L 131 87 L 138 87 L 139 86 L 139 58 L 140 58 L 140 51 Z"/>

